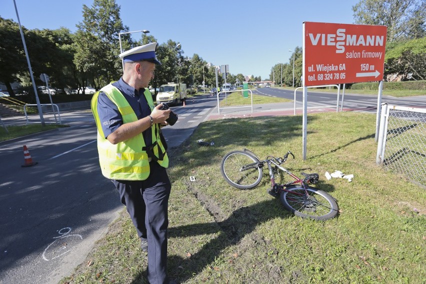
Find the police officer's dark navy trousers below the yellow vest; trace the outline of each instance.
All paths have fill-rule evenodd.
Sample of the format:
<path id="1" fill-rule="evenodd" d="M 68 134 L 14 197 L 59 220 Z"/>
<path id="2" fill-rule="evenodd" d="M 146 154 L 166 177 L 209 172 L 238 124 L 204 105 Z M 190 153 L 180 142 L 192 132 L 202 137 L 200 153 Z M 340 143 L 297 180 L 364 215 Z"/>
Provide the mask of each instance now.
<path id="1" fill-rule="evenodd" d="M 167 279 L 167 205 L 170 180 L 165 168 L 150 162 L 145 180 L 112 180 L 121 203 L 130 215 L 137 235 L 148 240 L 146 274 L 151 284 L 168 283 Z"/>

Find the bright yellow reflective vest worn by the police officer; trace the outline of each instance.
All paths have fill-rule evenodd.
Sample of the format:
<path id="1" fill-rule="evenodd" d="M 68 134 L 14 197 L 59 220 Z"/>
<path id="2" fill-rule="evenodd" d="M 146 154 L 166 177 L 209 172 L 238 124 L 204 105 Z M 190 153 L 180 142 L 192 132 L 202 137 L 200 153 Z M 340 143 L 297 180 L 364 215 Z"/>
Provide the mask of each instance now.
<path id="1" fill-rule="evenodd" d="M 99 153 L 99 163 L 102 174 L 110 179 L 121 180 L 144 180 L 149 176 L 149 161 L 146 152 L 145 141 L 142 133 L 136 136 L 111 144 L 104 138 L 99 115 L 97 113 L 97 97 L 100 92 L 104 92 L 108 98 L 118 107 L 123 123 L 129 123 L 137 120 L 133 109 L 122 95 L 122 93 L 113 85 L 109 84 L 94 93 L 91 99 L 91 110 L 97 126 L 97 149 Z M 144 96 L 150 109 L 153 109 L 152 95 L 145 89 Z M 152 152 L 155 155 L 156 162 L 161 166 L 168 166 L 168 157 L 159 136 L 159 126 L 152 126 Z"/>

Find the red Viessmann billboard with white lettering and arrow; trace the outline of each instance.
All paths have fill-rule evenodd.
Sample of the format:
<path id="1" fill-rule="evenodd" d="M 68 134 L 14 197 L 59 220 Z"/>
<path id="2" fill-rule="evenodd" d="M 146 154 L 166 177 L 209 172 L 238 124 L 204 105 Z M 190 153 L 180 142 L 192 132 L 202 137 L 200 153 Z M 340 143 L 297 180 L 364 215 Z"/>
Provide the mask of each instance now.
<path id="1" fill-rule="evenodd" d="M 305 86 L 383 79 L 384 25 L 303 23 Z"/>

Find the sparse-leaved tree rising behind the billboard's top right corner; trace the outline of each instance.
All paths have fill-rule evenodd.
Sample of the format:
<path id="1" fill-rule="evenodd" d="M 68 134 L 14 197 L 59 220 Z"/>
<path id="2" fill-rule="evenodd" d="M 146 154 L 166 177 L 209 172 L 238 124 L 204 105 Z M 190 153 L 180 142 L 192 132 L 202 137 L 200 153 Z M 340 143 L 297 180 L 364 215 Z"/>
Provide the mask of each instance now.
<path id="1" fill-rule="evenodd" d="M 387 41 L 425 35 L 426 0 L 360 0 L 352 6 L 355 23 L 387 26 Z"/>

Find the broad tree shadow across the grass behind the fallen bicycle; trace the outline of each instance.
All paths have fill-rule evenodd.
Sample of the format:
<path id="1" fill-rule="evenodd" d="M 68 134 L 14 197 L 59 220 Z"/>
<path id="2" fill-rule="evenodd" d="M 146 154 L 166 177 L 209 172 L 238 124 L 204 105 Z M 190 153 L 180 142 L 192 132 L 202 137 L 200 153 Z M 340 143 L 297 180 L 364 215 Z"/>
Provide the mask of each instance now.
<path id="1" fill-rule="evenodd" d="M 187 165 L 191 168 L 202 167 L 217 162 L 232 145 L 234 150 L 256 147 L 268 147 L 277 140 L 280 144 L 291 143 L 294 137 L 302 135 L 301 116 L 255 117 L 222 119 L 218 127 L 217 121 L 205 121 L 194 131 L 192 136 L 178 148 L 170 149 L 170 165 Z M 311 120 L 316 119 L 312 117 Z M 200 146 L 198 139 L 214 141 L 214 146 Z M 287 148 L 277 148 L 272 155 L 284 154 Z M 259 158 L 263 154 L 255 152 Z M 187 166 L 176 172 L 176 176 L 185 176 Z"/>

